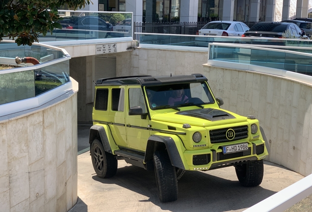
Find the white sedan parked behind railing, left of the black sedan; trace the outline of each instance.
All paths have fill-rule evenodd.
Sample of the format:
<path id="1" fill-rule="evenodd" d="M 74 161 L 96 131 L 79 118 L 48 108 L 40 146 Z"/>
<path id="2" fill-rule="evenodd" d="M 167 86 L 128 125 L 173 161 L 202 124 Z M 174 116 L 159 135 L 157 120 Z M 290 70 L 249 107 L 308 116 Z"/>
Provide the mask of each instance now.
<path id="1" fill-rule="evenodd" d="M 249 27 L 242 22 L 213 21 L 198 31 L 199 35 L 208 36 L 241 36 Z"/>

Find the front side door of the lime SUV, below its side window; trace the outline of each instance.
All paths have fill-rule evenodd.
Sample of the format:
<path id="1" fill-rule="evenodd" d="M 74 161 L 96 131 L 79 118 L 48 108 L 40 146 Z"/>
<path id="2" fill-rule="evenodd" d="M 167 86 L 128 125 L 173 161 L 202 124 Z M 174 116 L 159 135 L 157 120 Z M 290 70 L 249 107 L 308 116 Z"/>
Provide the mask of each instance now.
<path id="1" fill-rule="evenodd" d="M 147 112 L 141 86 L 131 86 L 128 89 L 128 109 L 133 106 L 140 106 L 143 112 Z M 150 120 L 148 117 L 141 118 L 141 115 L 126 114 L 126 130 L 129 148 L 145 151 L 147 139 L 150 137 Z"/>

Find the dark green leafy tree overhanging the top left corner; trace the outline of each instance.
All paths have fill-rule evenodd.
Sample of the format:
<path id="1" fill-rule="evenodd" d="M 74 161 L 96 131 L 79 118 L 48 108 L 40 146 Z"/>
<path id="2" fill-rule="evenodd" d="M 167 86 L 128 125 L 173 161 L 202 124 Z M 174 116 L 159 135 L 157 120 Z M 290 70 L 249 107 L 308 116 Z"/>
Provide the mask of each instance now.
<path id="1" fill-rule="evenodd" d="M 3 37 L 15 43 L 31 46 L 54 28 L 62 28 L 57 7 L 67 5 L 76 10 L 90 4 L 90 0 L 0 0 L 0 41 Z M 48 8 L 50 8 L 48 10 Z"/>

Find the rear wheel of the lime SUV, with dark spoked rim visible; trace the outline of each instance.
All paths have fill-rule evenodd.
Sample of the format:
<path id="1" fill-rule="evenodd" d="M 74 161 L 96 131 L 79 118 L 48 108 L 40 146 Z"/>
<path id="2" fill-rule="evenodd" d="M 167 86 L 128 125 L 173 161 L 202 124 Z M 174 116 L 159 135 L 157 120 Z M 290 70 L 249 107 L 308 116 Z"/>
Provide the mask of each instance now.
<path id="1" fill-rule="evenodd" d="M 110 178 L 117 172 L 118 162 L 113 154 L 104 151 L 102 143 L 95 139 L 91 145 L 93 168 L 100 178 Z"/>

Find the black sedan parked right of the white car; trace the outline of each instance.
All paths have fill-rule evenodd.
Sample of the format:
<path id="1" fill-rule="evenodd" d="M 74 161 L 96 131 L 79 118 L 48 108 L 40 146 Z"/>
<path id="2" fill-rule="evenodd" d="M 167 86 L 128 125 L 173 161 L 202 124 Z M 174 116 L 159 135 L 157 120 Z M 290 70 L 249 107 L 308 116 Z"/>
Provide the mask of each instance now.
<path id="1" fill-rule="evenodd" d="M 296 24 L 286 22 L 260 22 L 246 31 L 242 37 L 283 38 L 283 33 L 287 30 L 290 36 L 286 38 L 309 39 Z"/>

